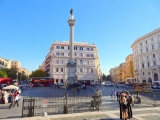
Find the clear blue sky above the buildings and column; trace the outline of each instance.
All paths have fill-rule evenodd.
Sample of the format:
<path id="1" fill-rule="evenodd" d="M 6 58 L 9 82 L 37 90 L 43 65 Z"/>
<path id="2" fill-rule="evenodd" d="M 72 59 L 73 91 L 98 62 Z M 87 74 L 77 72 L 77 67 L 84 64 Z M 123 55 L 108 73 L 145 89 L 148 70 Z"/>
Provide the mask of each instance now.
<path id="1" fill-rule="evenodd" d="M 125 61 L 131 44 L 160 27 L 159 0 L 0 0 L 0 56 L 36 70 L 54 40 L 95 43 L 102 72 Z"/>

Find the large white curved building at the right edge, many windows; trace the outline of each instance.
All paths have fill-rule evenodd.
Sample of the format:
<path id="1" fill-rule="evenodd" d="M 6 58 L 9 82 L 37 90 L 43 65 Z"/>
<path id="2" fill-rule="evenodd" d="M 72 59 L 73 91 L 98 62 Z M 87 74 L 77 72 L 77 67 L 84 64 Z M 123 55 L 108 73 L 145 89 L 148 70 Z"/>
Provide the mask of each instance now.
<path id="1" fill-rule="evenodd" d="M 131 48 L 135 82 L 160 80 L 160 28 L 135 40 Z"/>

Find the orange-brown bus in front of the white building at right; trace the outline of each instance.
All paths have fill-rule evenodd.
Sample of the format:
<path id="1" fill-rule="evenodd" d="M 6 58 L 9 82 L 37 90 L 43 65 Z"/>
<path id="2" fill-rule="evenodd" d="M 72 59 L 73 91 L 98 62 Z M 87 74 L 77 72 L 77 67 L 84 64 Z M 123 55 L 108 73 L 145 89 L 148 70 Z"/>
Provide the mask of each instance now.
<path id="1" fill-rule="evenodd" d="M 139 92 L 152 92 L 152 83 L 134 83 L 134 89 Z"/>

